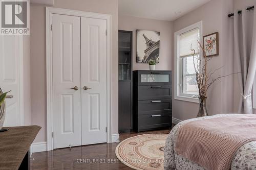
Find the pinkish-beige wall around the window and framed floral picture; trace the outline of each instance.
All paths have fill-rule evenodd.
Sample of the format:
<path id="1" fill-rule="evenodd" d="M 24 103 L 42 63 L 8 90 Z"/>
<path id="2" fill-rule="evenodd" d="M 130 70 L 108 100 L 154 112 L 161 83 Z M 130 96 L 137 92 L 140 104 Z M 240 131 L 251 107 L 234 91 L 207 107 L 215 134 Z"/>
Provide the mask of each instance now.
<path id="1" fill-rule="evenodd" d="M 219 32 L 220 55 L 209 62 L 209 70 L 224 66 L 216 76 L 233 72 L 232 19 L 227 14 L 233 11 L 233 0 L 215 0 L 174 21 L 174 32 L 200 20 L 203 21 L 203 35 Z M 174 56 L 174 51 L 173 51 Z M 208 114 L 233 112 L 233 77 L 223 78 L 208 92 Z M 173 100 L 173 117 L 185 120 L 197 115 L 199 104 Z"/>

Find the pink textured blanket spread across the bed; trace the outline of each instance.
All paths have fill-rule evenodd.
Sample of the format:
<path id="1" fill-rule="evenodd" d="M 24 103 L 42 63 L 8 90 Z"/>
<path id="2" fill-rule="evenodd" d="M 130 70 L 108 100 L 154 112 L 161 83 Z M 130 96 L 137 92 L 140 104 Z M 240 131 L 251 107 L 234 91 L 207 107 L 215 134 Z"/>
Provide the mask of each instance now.
<path id="1" fill-rule="evenodd" d="M 180 127 L 175 151 L 205 169 L 228 170 L 237 150 L 255 140 L 256 115 L 214 117 Z"/>

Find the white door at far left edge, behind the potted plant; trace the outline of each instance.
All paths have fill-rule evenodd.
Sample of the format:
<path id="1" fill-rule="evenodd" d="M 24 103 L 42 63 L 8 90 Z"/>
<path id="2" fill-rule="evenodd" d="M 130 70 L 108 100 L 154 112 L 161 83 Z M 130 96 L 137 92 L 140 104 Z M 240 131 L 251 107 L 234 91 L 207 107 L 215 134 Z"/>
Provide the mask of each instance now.
<path id="1" fill-rule="evenodd" d="M 22 46 L 18 36 L 0 36 L 0 87 L 4 92 L 11 90 L 6 99 L 5 127 L 24 124 L 22 102 Z"/>

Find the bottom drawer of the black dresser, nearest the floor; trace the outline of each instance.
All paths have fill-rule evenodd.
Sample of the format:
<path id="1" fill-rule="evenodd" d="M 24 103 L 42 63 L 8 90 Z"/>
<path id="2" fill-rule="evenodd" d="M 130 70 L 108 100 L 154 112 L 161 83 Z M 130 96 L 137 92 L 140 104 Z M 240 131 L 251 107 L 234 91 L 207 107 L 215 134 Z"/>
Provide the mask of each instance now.
<path id="1" fill-rule="evenodd" d="M 138 131 L 150 130 L 154 128 L 171 127 L 172 115 L 168 113 L 139 115 L 138 123 Z"/>

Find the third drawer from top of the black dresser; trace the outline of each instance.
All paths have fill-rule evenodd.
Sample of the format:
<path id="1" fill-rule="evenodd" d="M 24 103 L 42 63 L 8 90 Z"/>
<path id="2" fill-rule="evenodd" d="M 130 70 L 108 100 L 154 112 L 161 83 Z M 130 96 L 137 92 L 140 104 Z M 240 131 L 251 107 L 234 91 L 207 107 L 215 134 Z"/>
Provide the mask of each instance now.
<path id="1" fill-rule="evenodd" d="M 139 115 L 160 113 L 172 113 L 172 99 L 139 101 Z"/>

